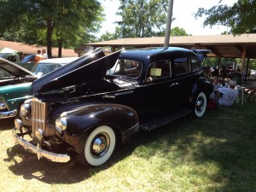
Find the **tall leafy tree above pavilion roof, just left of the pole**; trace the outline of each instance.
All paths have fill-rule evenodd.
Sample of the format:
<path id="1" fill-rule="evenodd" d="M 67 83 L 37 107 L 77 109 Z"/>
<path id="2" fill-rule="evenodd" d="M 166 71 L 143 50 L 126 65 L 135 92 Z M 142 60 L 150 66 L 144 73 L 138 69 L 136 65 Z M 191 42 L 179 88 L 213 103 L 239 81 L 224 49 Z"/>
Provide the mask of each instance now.
<path id="1" fill-rule="evenodd" d="M 158 36 L 166 29 L 168 0 L 120 0 L 119 38 Z"/>

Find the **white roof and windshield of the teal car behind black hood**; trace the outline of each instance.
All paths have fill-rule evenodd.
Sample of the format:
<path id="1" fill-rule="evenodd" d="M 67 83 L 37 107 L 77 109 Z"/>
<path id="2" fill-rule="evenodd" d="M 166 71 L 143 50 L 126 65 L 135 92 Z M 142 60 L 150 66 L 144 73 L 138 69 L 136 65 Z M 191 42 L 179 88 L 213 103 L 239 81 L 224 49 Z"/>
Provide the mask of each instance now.
<path id="1" fill-rule="evenodd" d="M 32 73 L 36 74 L 38 78 L 44 76 L 47 73 L 54 71 L 55 69 L 66 65 L 69 62 L 75 61 L 79 57 L 64 57 L 64 58 L 54 58 L 46 59 L 38 62 L 37 65 L 32 67 Z"/>

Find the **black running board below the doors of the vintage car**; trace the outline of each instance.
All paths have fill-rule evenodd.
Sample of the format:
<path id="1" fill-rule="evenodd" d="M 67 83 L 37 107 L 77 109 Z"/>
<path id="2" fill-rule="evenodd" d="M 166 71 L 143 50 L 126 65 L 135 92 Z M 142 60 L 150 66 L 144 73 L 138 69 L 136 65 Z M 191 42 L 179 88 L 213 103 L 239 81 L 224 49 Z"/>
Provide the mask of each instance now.
<path id="1" fill-rule="evenodd" d="M 163 115 L 159 115 L 155 118 L 150 118 L 150 119 L 140 122 L 140 128 L 143 131 L 151 131 L 151 130 L 154 130 L 155 128 L 158 128 L 162 125 L 166 125 L 166 124 L 172 122 L 173 120 L 180 119 L 189 113 L 192 113 L 191 109 L 182 108 L 182 109 L 179 109 L 172 113 L 166 113 Z"/>

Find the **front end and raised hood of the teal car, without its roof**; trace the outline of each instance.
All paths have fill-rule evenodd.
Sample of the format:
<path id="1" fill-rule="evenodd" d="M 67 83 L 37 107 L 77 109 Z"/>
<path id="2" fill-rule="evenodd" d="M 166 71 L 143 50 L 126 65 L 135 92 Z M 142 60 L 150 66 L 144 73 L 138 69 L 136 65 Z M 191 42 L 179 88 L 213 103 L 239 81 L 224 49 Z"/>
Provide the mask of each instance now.
<path id="1" fill-rule="evenodd" d="M 37 76 L 0 58 L 0 119 L 15 117 L 20 105 L 32 97 L 31 84 Z"/>

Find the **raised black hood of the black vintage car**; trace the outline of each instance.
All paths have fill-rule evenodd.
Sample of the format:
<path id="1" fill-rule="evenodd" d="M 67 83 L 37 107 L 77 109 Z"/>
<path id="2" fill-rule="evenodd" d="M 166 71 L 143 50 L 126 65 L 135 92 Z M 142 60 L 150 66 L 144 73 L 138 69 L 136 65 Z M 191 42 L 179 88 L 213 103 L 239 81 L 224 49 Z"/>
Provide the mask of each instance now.
<path id="1" fill-rule="evenodd" d="M 57 68 L 53 73 L 32 83 L 32 93 L 61 89 L 67 86 L 82 84 L 102 79 L 108 69 L 112 68 L 120 51 L 105 56 L 102 49 L 96 49 L 90 55 Z"/>

